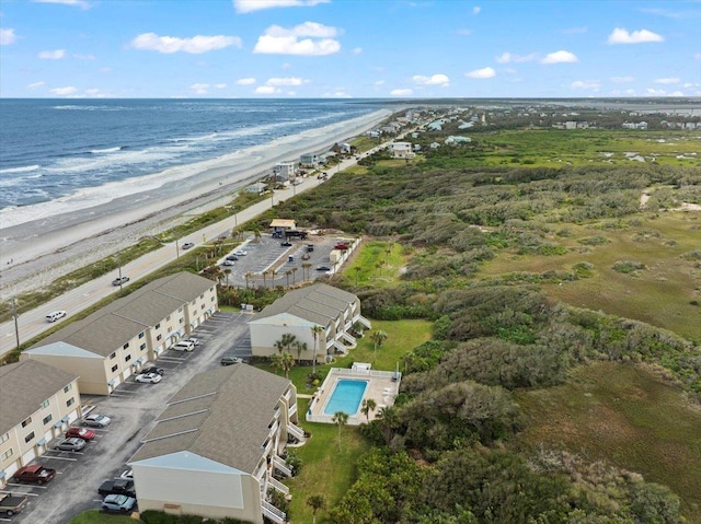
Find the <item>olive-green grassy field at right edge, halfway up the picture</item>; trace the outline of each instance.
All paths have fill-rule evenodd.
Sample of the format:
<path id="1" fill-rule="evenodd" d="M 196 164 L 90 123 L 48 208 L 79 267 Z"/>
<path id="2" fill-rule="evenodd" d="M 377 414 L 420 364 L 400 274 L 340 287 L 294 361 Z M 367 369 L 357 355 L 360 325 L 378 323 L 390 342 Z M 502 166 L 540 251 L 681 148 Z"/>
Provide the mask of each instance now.
<path id="1" fill-rule="evenodd" d="M 673 330 L 683 337 L 701 340 L 701 268 L 698 260 L 683 255 L 698 249 L 701 237 L 701 213 L 668 212 L 659 217 L 641 216 L 625 220 L 617 228 L 593 222 L 586 225 L 566 224 L 568 236 L 552 241 L 567 247 L 561 256 L 516 255 L 504 249 L 484 265 L 480 275 L 494 277 L 512 271 L 542 273 L 572 270 L 578 263 L 594 266 L 589 278 L 544 283 L 553 298 L 568 304 L 640 319 Z M 636 224 L 636 225 L 632 225 Z M 600 245 L 582 241 L 602 237 Z M 586 242 L 586 241 L 585 241 Z M 645 268 L 633 273 L 613 269 L 617 261 L 637 261 Z"/>

